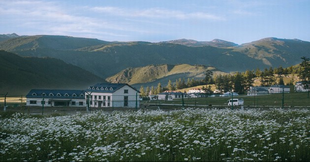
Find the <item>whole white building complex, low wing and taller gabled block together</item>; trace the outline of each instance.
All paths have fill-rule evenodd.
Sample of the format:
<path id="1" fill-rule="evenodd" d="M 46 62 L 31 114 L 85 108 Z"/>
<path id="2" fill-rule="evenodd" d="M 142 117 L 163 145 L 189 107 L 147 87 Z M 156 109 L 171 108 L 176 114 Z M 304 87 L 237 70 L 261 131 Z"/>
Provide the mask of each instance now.
<path id="1" fill-rule="evenodd" d="M 97 83 L 86 90 L 31 89 L 27 106 L 139 108 L 140 92 L 125 83 Z"/>

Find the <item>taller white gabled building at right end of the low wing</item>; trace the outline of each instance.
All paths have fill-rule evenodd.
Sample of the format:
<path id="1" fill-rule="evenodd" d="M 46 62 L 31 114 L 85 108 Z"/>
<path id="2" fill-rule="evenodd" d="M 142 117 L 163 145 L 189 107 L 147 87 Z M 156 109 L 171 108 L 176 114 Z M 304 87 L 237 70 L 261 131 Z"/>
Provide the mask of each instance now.
<path id="1" fill-rule="evenodd" d="M 140 92 L 126 83 L 97 83 L 85 90 L 90 107 L 139 108 Z"/>

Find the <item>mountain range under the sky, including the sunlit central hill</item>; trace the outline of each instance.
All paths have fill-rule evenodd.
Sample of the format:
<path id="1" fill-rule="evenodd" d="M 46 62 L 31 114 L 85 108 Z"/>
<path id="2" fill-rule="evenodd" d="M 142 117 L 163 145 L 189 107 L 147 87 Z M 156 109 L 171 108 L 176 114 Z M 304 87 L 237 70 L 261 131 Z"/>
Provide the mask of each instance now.
<path id="1" fill-rule="evenodd" d="M 169 76 L 201 77 L 191 74 L 194 71 L 170 73 L 173 68 L 180 69 L 181 66 L 177 65 L 189 69 L 212 67 L 227 73 L 293 66 L 302 61 L 302 56 L 310 55 L 310 42 L 273 37 L 241 45 L 219 39 L 109 42 L 58 35 L 19 36 L 13 33 L 0 35 L 0 50 L 18 54 L 23 59 L 54 58 L 88 71 L 99 80 L 132 84 L 152 82 L 156 86 L 159 80 L 167 80 Z M 165 68 L 166 71 L 162 71 Z M 156 70 L 160 75 L 155 75 Z M 147 73 L 137 75 L 139 71 Z"/>

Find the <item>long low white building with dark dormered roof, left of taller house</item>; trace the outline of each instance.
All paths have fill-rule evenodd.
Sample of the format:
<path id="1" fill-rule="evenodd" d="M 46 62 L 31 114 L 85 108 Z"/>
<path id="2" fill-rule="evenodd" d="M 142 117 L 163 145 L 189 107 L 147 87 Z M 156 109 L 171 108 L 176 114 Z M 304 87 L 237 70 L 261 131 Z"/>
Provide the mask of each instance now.
<path id="1" fill-rule="evenodd" d="M 27 106 L 86 107 L 83 90 L 31 89 L 26 98 Z"/>

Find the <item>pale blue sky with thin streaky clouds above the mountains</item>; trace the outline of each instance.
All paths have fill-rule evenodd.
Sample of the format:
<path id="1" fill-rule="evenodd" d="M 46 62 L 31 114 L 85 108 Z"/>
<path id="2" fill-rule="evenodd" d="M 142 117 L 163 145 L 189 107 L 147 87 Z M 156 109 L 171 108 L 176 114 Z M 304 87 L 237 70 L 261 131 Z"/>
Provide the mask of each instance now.
<path id="1" fill-rule="evenodd" d="M 310 0 L 0 0 L 0 34 L 310 41 Z"/>

